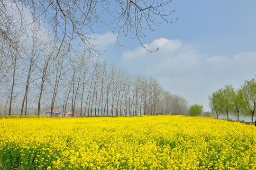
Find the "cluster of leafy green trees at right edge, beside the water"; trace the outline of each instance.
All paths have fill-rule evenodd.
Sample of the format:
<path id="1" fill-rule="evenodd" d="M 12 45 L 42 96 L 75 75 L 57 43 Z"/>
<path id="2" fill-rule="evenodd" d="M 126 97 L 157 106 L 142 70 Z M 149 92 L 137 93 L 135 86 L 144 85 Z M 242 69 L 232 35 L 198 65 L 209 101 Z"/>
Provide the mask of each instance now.
<path id="1" fill-rule="evenodd" d="M 232 85 L 225 85 L 209 95 L 209 107 L 211 112 L 217 115 L 229 114 L 253 116 L 256 112 L 256 79 L 246 80 L 244 85 L 235 89 Z"/>

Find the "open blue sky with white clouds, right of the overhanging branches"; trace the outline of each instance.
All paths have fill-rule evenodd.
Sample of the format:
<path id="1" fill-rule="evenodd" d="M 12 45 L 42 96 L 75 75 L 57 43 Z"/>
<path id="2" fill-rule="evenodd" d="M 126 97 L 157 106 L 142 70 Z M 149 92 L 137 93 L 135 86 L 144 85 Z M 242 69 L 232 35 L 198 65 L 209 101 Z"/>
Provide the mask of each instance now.
<path id="1" fill-rule="evenodd" d="M 209 94 L 231 84 L 235 88 L 256 76 L 256 0 L 173 0 L 172 24 L 154 27 L 142 41 L 159 47 L 144 51 L 137 40 L 122 38 L 107 27 L 92 35 L 100 56 L 130 73 L 155 76 L 165 90 L 189 104 L 209 109 Z"/>

